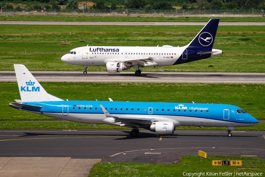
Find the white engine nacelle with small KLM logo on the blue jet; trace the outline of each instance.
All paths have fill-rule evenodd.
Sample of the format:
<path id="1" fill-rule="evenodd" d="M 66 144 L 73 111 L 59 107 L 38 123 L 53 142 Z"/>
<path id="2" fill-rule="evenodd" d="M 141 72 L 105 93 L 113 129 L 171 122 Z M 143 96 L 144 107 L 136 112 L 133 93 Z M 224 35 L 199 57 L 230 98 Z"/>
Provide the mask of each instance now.
<path id="1" fill-rule="evenodd" d="M 174 133 L 174 125 L 174 122 L 155 122 L 150 126 L 150 131 L 160 135 L 169 135 Z"/>

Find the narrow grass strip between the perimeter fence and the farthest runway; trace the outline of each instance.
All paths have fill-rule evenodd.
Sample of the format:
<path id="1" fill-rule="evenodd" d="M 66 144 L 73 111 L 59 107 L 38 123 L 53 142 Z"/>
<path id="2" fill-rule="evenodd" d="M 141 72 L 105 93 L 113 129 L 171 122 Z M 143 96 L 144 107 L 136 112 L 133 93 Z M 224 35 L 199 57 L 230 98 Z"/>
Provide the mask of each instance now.
<path id="1" fill-rule="evenodd" d="M 48 21 L 48 22 L 208 22 L 213 17 L 86 17 L 83 15 L 9 15 L 0 16 L 0 21 Z M 262 17 L 218 17 L 220 22 L 265 22 Z"/>

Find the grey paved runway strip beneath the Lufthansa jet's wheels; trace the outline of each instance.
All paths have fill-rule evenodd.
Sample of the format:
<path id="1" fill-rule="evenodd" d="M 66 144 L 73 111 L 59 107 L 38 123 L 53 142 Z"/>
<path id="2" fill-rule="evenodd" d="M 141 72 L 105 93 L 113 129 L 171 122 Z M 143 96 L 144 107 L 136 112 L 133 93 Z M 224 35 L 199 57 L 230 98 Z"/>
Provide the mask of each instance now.
<path id="1" fill-rule="evenodd" d="M 265 83 L 265 73 L 32 71 L 40 82 Z M 14 71 L 0 71 L 0 81 L 16 82 Z"/>

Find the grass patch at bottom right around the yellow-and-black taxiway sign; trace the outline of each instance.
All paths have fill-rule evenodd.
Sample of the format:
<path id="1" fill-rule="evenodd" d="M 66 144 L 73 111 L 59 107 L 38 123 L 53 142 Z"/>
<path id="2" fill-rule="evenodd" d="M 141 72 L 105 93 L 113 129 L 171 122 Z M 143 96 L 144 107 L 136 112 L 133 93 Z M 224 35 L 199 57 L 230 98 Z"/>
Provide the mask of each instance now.
<path id="1" fill-rule="evenodd" d="M 212 160 L 242 160 L 242 166 L 212 166 Z M 249 165 L 253 162 L 254 165 Z M 256 164 L 257 165 L 256 165 Z M 248 165 L 246 165 L 248 164 Z M 259 164 L 259 165 L 258 165 Z M 261 176 L 265 174 L 265 162 L 259 158 L 249 158 L 249 157 L 238 157 L 238 156 L 225 156 L 225 155 L 207 155 L 207 158 L 200 158 L 197 155 L 182 155 L 181 160 L 177 164 L 138 164 L 138 163 L 96 163 L 90 171 L 89 177 L 94 177 L 96 175 L 102 177 L 109 176 L 156 176 L 156 177 L 176 177 L 183 176 L 183 172 L 186 173 L 196 173 L 202 172 L 203 175 L 199 176 L 222 176 L 220 172 L 233 173 L 232 175 L 224 175 L 226 177 L 234 177 L 236 173 L 262 173 Z M 238 169 L 241 168 L 241 169 Z M 246 169 L 242 169 L 246 168 Z M 218 175 L 209 175 L 213 172 Z M 185 173 L 185 174 L 186 174 Z M 197 177 L 198 175 L 196 175 Z M 256 175 L 254 175 L 256 176 Z M 190 176 L 191 177 L 191 176 Z"/>

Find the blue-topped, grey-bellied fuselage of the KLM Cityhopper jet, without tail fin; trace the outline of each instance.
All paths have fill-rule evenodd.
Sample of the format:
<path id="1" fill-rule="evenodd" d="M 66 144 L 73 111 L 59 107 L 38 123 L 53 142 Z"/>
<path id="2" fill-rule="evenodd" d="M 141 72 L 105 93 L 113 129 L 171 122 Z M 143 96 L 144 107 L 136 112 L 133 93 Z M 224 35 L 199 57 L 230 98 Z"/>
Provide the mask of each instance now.
<path id="1" fill-rule="evenodd" d="M 24 103 L 42 108 L 21 106 L 20 109 L 37 114 L 87 124 L 111 124 L 132 127 L 138 120 L 117 123 L 114 118 L 106 117 L 100 105 L 114 116 L 152 118 L 141 121 L 140 128 L 152 122 L 171 121 L 178 126 L 205 127 L 248 127 L 259 122 L 244 110 L 228 104 L 192 104 L 158 102 L 121 102 L 121 101 L 44 101 Z"/>

